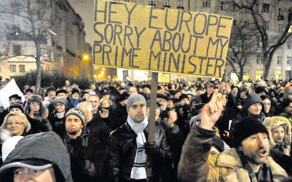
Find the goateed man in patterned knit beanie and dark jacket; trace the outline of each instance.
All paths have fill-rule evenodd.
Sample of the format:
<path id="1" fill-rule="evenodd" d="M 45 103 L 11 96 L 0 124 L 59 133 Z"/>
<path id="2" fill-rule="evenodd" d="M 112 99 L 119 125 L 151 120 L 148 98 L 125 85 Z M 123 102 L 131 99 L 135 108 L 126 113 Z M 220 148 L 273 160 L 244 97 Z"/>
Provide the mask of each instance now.
<path id="1" fill-rule="evenodd" d="M 104 174 L 105 150 L 98 138 L 85 127 L 85 116 L 79 108 L 65 115 L 66 134 L 62 136 L 70 154 L 74 182 L 101 181 Z"/>

